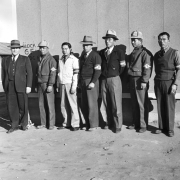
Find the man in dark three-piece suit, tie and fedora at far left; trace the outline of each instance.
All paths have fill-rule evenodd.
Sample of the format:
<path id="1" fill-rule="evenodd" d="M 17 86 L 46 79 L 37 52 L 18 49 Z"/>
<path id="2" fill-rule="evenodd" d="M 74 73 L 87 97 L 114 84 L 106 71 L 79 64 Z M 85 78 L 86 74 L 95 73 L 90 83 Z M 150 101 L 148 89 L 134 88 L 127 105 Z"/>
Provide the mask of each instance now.
<path id="1" fill-rule="evenodd" d="M 28 57 L 19 54 L 19 40 L 12 40 L 12 56 L 2 64 L 2 84 L 7 98 L 7 106 L 11 120 L 11 128 L 7 133 L 19 129 L 26 131 L 28 125 L 28 93 L 31 92 L 32 68 Z"/>

